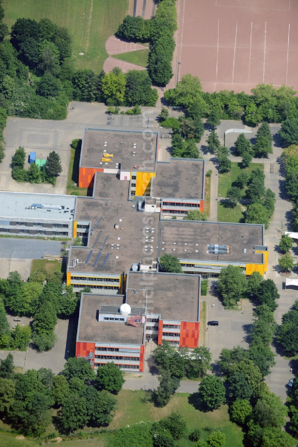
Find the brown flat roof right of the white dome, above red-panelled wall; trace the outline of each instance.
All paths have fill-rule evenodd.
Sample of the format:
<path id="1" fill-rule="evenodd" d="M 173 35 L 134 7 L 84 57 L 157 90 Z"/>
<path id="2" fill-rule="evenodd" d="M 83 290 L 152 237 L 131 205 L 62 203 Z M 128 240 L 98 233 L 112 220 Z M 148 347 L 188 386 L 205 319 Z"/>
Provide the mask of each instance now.
<path id="1" fill-rule="evenodd" d="M 162 320 L 198 321 L 200 277 L 191 274 L 129 272 L 126 303 L 131 307 L 146 302 L 147 314 Z M 137 292 L 137 293 L 136 293 Z"/>

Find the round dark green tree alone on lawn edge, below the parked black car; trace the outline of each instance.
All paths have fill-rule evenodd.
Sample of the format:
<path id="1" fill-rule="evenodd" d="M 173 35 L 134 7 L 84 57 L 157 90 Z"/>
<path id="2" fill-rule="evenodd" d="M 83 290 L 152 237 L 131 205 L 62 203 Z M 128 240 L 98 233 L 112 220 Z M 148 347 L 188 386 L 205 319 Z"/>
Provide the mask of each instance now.
<path id="1" fill-rule="evenodd" d="M 202 378 L 199 387 L 199 398 L 208 410 L 215 410 L 225 401 L 226 390 L 222 379 L 215 375 Z"/>

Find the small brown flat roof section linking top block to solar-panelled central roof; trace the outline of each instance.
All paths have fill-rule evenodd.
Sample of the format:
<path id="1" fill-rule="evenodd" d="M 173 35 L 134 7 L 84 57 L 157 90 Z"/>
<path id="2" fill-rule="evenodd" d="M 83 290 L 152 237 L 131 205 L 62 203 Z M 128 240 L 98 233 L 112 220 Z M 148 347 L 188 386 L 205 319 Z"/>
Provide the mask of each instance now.
<path id="1" fill-rule="evenodd" d="M 120 180 L 118 175 L 97 172 L 94 179 L 94 198 L 110 198 L 120 202 L 128 201 L 129 180 Z"/>

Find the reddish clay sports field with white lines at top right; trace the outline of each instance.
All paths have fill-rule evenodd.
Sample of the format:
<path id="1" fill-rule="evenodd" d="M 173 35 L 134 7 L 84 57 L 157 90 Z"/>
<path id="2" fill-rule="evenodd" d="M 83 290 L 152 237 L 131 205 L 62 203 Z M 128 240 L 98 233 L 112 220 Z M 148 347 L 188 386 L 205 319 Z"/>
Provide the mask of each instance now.
<path id="1" fill-rule="evenodd" d="M 177 79 L 196 75 L 208 92 L 298 90 L 297 22 L 297 0 L 180 0 Z"/>

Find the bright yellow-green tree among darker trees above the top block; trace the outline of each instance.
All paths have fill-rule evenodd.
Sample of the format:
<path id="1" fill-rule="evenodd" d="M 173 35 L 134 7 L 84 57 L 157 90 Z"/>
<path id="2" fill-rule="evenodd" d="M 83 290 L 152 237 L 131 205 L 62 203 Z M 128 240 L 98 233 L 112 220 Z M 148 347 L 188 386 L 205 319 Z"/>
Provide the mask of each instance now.
<path id="1" fill-rule="evenodd" d="M 117 72 L 113 69 L 112 72 L 106 73 L 105 76 L 103 76 L 101 82 L 102 94 L 105 100 L 112 101 L 113 105 L 123 104 L 126 80 L 122 71 L 120 70 L 120 72 Z"/>

